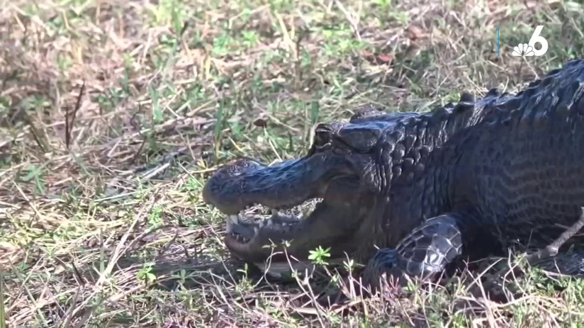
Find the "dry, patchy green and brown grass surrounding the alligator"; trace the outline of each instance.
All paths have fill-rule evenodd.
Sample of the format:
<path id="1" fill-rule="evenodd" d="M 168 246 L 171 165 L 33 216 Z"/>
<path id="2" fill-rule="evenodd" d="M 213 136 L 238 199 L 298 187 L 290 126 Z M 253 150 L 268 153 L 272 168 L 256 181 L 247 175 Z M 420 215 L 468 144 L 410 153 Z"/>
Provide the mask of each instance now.
<path id="1" fill-rule="evenodd" d="M 363 104 L 422 111 L 464 90 L 515 92 L 584 53 L 582 15 L 550 0 L 6 2 L 0 321 L 584 325 L 583 282 L 536 269 L 508 277 L 518 294 L 505 287 L 504 301 L 451 282 L 323 306 L 317 277 L 274 282 L 231 259 L 200 194 L 217 165 L 299 156 L 315 124 Z M 536 25 L 547 53 L 512 57 Z"/>

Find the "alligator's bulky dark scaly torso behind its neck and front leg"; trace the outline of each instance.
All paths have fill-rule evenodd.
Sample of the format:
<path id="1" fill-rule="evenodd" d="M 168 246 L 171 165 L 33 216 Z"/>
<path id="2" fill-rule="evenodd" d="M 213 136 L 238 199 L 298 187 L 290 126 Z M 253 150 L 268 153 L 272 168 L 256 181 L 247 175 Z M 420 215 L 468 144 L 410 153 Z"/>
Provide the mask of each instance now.
<path id="1" fill-rule="evenodd" d="M 461 144 L 466 197 L 502 242 L 545 245 L 584 205 L 584 61 L 572 61 L 500 99 Z M 478 165 L 478 164 L 481 165 Z"/>

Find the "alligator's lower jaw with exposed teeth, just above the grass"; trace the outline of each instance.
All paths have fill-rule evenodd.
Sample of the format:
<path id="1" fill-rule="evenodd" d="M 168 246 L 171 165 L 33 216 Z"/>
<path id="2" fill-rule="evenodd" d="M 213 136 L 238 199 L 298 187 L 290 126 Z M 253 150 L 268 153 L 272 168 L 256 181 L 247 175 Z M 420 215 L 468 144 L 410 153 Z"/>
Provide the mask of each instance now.
<path id="1" fill-rule="evenodd" d="M 305 218 L 277 210 L 258 223 L 250 222 L 249 215 L 225 215 L 225 246 L 234 256 L 259 268 L 265 267 L 267 260 L 270 274 L 288 271 L 290 264 L 293 268 L 304 267 L 310 250 L 318 246 L 332 247 L 328 260 L 334 261 L 344 256 L 343 252 L 350 252 L 347 244 L 355 245 L 350 240 L 361 221 L 359 207 L 331 202 L 327 197 L 316 201 L 314 210 Z M 303 207 L 301 203 L 300 208 Z"/>

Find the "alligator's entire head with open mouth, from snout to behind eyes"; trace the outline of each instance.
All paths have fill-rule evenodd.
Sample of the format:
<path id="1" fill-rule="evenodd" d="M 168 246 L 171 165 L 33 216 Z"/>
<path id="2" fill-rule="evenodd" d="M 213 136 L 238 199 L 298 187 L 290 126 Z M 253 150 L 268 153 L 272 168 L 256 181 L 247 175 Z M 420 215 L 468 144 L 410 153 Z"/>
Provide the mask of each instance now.
<path id="1" fill-rule="evenodd" d="M 387 199 L 381 190 L 387 182 L 386 168 L 379 164 L 384 149 L 378 144 L 387 141 L 384 131 L 414 116 L 418 114 L 362 111 L 349 123 L 319 124 L 302 158 L 272 166 L 239 159 L 218 169 L 204 186 L 203 199 L 225 214 L 230 252 L 259 267 L 270 257 L 274 273 L 285 270 L 278 267 L 287 267 L 286 256 L 306 264 L 309 251 L 318 246 L 331 248 L 331 261 L 346 259 L 363 245 L 381 246 L 375 239 L 387 238 L 380 224 Z M 303 219 L 279 211 L 309 200 L 318 204 Z M 241 211 L 255 204 L 272 209 L 272 218 L 259 223 L 244 218 Z M 289 242 L 285 253 L 284 240 Z"/>

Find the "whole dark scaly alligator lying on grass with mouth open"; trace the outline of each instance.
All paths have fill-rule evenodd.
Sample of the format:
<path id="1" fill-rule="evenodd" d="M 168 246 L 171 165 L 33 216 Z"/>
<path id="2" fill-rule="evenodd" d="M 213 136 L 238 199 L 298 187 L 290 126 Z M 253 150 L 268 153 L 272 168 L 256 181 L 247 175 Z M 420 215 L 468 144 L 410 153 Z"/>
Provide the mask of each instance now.
<path id="1" fill-rule="evenodd" d="M 463 92 L 423 113 L 367 107 L 318 124 L 301 158 L 219 168 L 203 200 L 225 214 L 228 250 L 259 267 L 269 259 L 273 270 L 329 247 L 330 260 L 363 263 L 373 283 L 541 249 L 584 222 L 583 95 L 584 60 L 575 60 L 515 95 Z M 282 212 L 312 200 L 305 218 Z M 252 222 L 242 214 L 252 205 L 272 217 Z M 573 259 L 571 273 L 584 274 L 584 254 Z"/>

